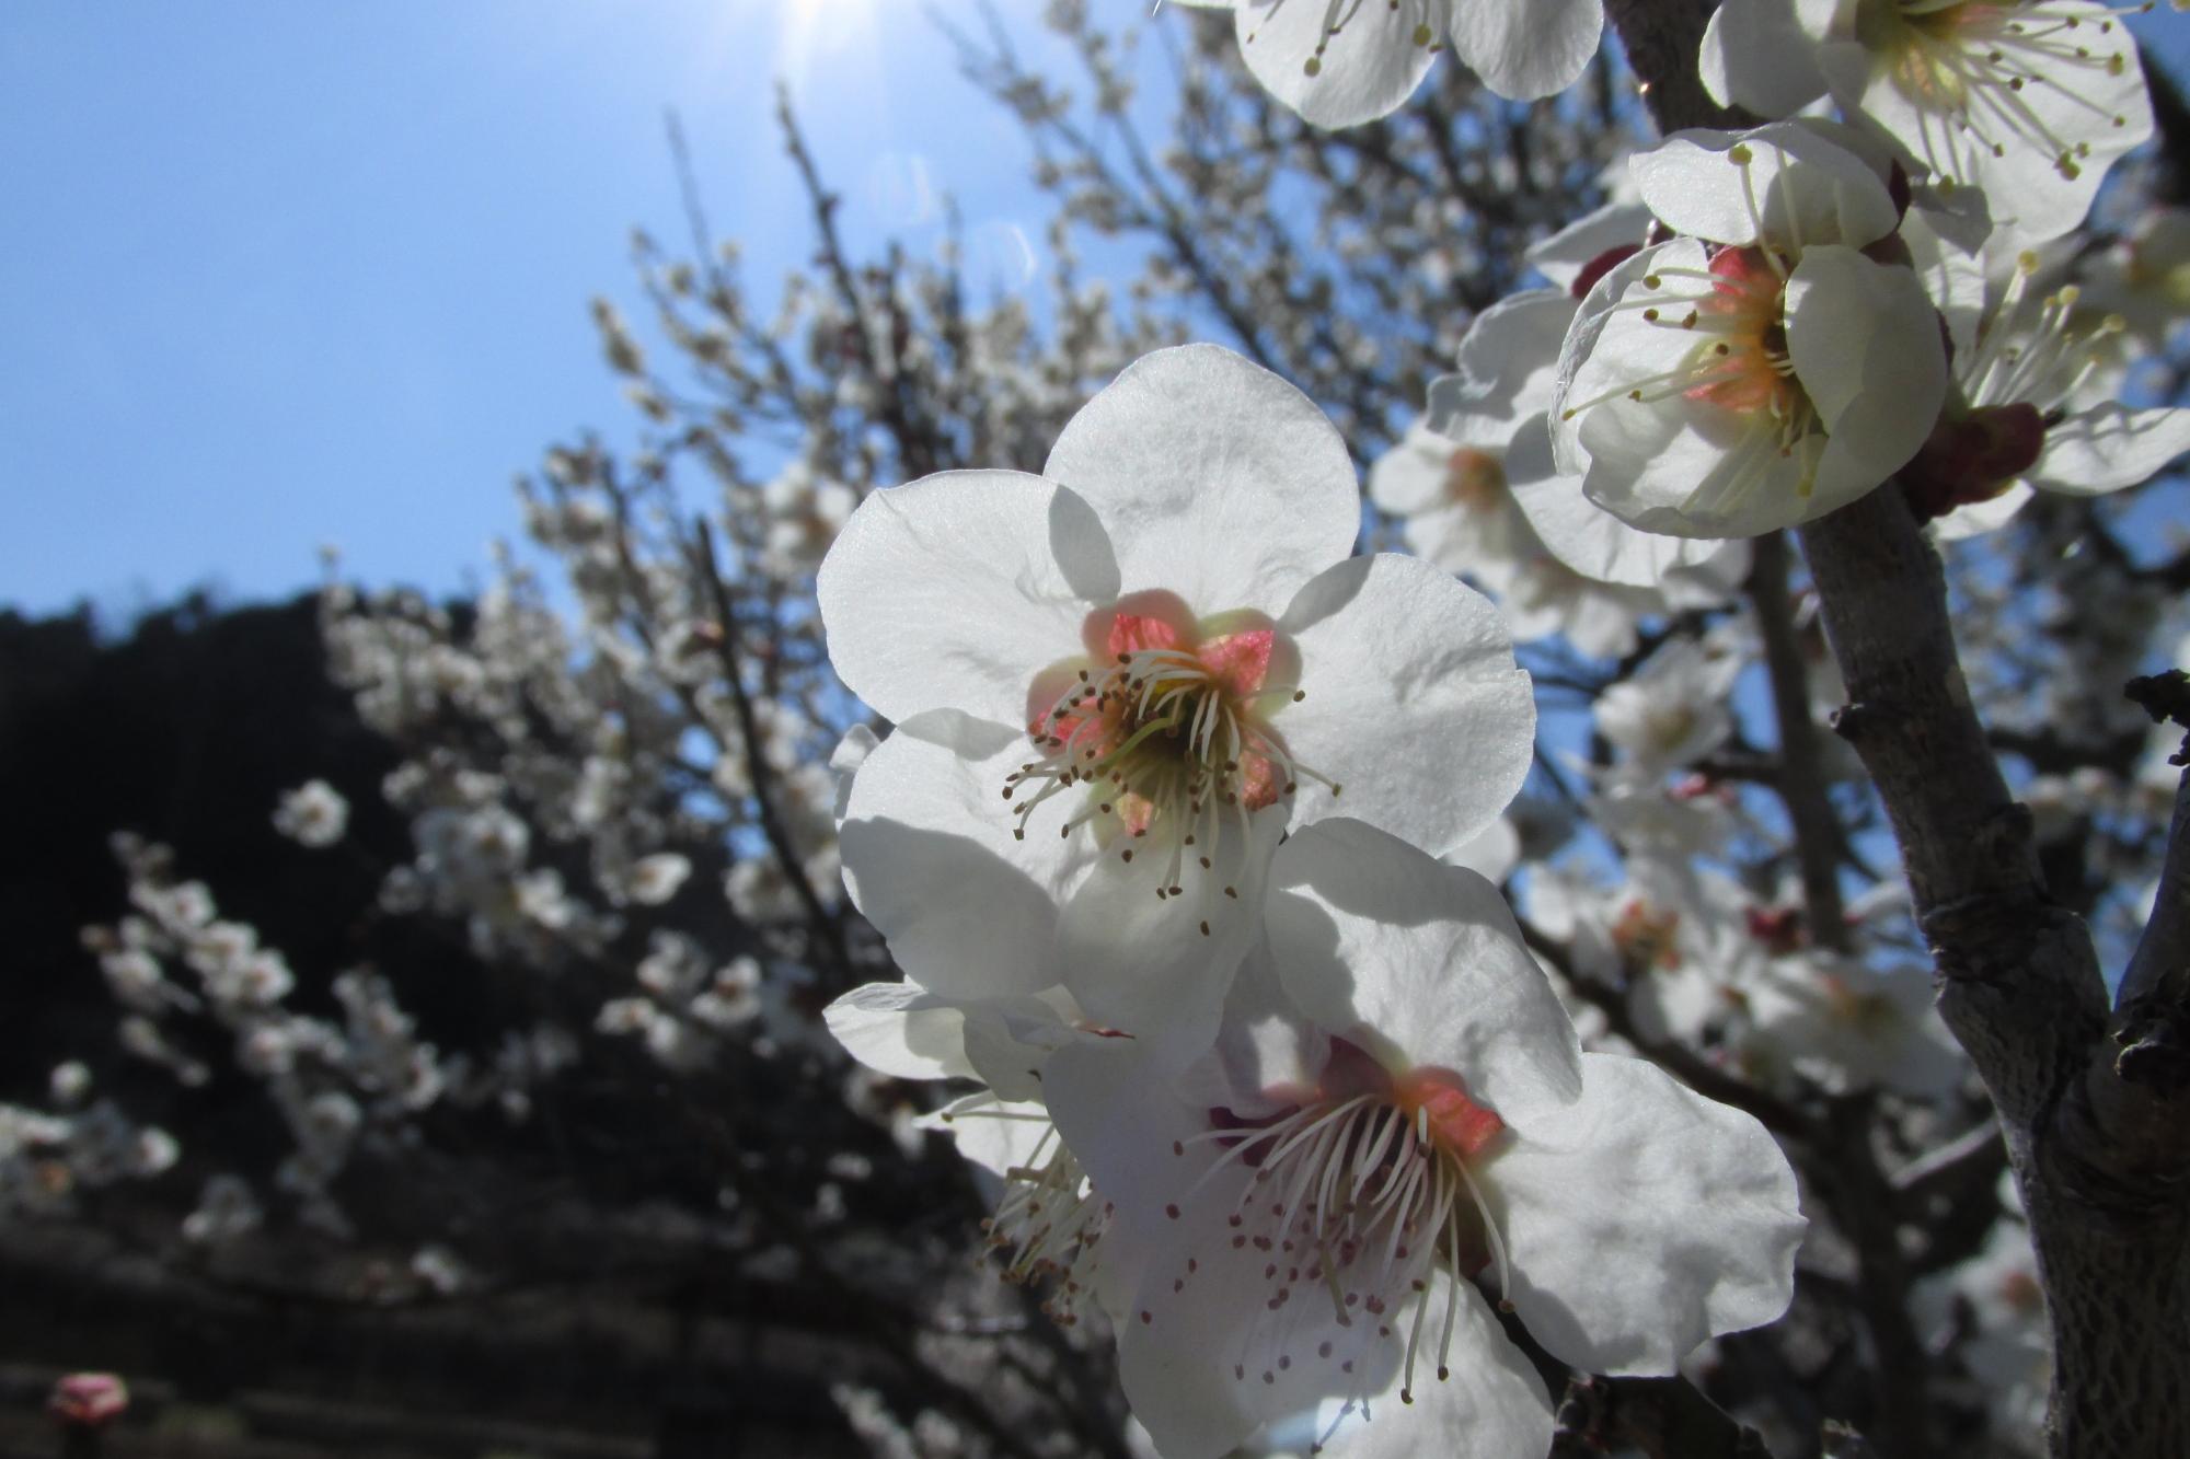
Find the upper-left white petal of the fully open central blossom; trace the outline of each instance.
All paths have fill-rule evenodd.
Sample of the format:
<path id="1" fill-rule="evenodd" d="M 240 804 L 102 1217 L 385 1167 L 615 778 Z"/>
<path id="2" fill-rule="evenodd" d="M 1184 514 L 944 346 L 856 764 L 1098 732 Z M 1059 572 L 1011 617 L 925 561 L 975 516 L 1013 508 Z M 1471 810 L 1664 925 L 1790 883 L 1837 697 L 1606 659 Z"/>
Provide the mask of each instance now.
<path id="1" fill-rule="evenodd" d="M 1021 723 L 1034 675 L 1080 653 L 1117 596 L 1084 504 L 1018 471 L 944 471 L 876 491 L 821 561 L 830 664 L 878 714 Z"/>

